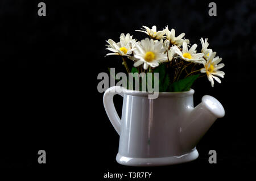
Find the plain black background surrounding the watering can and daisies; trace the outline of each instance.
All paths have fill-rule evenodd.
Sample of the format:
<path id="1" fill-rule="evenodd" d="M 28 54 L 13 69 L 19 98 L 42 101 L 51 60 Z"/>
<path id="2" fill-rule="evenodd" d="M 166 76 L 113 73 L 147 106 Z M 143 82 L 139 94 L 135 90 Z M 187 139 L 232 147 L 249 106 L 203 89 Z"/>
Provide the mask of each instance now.
<path id="1" fill-rule="evenodd" d="M 0 2 L 1 167 L 69 168 L 90 166 L 95 180 L 106 172 L 150 171 L 153 179 L 191 171 L 238 172 L 255 168 L 256 2 L 214 1 L 43 1 L 47 16 L 38 16 L 40 1 Z M 123 69 L 115 56 L 104 57 L 105 40 L 118 41 L 142 26 L 166 25 L 222 57 L 226 75 L 214 88 L 201 79 L 193 85 L 195 105 L 205 94 L 216 97 L 226 115 L 197 145 L 199 158 L 164 167 L 126 167 L 115 162 L 118 134 L 97 91 L 97 75 Z M 115 98 L 121 113 L 122 99 Z M 47 163 L 38 164 L 38 150 Z M 208 151 L 217 151 L 209 164 Z M 234 172 L 238 170 L 238 172 Z M 88 171 L 88 169 L 86 169 Z"/>

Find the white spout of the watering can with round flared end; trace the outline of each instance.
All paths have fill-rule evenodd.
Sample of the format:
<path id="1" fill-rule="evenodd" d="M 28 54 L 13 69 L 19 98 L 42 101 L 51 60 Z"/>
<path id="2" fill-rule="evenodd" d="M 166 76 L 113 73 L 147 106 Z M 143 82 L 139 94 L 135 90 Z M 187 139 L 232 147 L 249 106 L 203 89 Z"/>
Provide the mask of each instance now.
<path id="1" fill-rule="evenodd" d="M 214 121 L 224 115 L 225 110 L 217 99 L 209 95 L 203 96 L 202 102 L 191 108 L 187 118 L 181 123 L 181 146 L 187 150 L 195 148 Z"/>

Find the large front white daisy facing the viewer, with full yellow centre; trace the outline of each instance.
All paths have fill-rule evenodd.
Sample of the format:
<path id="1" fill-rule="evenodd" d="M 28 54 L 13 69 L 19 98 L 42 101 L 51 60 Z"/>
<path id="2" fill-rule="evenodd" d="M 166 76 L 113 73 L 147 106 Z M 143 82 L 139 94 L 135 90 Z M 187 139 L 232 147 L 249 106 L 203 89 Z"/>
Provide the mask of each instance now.
<path id="1" fill-rule="evenodd" d="M 164 54 L 166 49 L 162 47 L 163 43 L 160 41 L 155 43 L 154 40 L 148 38 L 141 40 L 141 44 L 137 44 L 134 50 L 134 57 L 138 59 L 134 66 L 143 64 L 144 69 L 147 69 L 148 65 L 154 68 L 159 65 L 160 61 L 166 61 L 167 55 Z"/>

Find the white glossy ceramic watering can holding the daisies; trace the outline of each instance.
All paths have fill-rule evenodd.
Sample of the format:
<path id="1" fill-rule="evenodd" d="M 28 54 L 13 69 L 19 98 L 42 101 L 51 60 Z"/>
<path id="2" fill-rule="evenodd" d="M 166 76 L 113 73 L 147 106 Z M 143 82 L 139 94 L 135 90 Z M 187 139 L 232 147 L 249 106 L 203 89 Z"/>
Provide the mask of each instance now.
<path id="1" fill-rule="evenodd" d="M 225 115 L 217 99 L 205 95 L 193 107 L 194 90 L 159 92 L 148 99 L 147 92 L 114 86 L 105 91 L 104 107 L 120 136 L 118 163 L 128 166 L 160 166 L 188 162 L 198 157 L 195 148 L 218 117 Z M 123 96 L 122 119 L 113 96 Z"/>

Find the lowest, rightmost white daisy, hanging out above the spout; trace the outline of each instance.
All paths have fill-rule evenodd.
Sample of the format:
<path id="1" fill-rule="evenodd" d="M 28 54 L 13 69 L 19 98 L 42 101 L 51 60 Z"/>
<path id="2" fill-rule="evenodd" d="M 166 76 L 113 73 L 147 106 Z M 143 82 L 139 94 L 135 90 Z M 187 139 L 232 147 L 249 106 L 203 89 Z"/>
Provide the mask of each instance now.
<path id="1" fill-rule="evenodd" d="M 214 85 L 213 79 L 215 79 L 218 83 L 221 83 L 221 80 L 218 77 L 224 78 L 224 75 L 225 75 L 224 71 L 219 70 L 224 67 L 224 64 L 218 64 L 221 62 L 222 58 L 215 57 L 215 56 L 216 56 L 216 52 L 210 52 L 207 58 L 207 61 L 203 61 L 204 68 L 201 69 L 201 73 L 207 74 L 207 78 L 210 81 L 210 84 L 212 85 L 212 87 Z"/>

